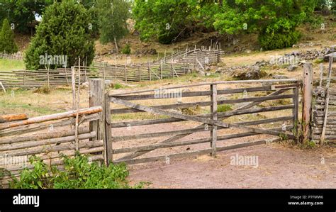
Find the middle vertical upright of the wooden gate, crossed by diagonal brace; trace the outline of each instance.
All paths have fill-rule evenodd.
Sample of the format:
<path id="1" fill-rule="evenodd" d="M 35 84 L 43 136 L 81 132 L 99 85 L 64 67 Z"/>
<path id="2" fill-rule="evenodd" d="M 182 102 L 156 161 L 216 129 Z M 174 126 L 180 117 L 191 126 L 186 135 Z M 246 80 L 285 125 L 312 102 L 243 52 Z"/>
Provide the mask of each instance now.
<path id="1" fill-rule="evenodd" d="M 213 121 L 217 121 L 217 84 L 211 84 L 211 114 Z M 211 129 L 211 156 L 215 157 L 216 155 L 216 143 L 217 143 L 217 126 L 212 125 Z"/>

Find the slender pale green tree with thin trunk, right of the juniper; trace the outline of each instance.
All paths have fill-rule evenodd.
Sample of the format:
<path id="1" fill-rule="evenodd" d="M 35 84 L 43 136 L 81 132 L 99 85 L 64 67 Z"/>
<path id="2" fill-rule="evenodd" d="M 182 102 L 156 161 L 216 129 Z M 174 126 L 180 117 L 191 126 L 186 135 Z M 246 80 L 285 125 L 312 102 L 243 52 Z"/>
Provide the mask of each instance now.
<path id="1" fill-rule="evenodd" d="M 130 4 L 123 0 L 97 0 L 100 40 L 105 44 L 114 41 L 118 52 L 117 41 L 127 33 L 127 19 L 130 16 Z"/>

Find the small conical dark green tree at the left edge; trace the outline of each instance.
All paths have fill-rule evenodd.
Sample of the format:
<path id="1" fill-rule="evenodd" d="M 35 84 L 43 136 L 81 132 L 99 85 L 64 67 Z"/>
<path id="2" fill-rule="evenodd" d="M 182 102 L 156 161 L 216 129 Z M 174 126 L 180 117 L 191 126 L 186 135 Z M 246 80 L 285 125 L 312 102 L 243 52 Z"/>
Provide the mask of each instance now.
<path id="1" fill-rule="evenodd" d="M 0 52 L 7 52 L 11 54 L 17 51 L 18 46 L 14 40 L 14 33 L 11 30 L 8 19 L 5 18 L 0 32 Z"/>

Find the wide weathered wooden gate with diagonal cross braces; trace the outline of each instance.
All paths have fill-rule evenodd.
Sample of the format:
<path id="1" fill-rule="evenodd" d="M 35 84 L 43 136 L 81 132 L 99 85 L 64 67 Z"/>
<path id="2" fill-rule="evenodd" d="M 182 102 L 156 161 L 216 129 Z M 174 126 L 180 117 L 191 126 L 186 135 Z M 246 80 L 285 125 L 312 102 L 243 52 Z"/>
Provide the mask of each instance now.
<path id="1" fill-rule="evenodd" d="M 296 79 L 212 82 L 127 94 L 104 94 L 103 81 L 92 83 L 95 104 L 90 106 L 104 108 L 101 134 L 106 140 L 106 157 L 116 163 L 215 156 L 218 151 L 260 145 L 279 140 L 279 136 L 296 138 L 291 132 L 298 121 L 300 83 Z M 247 142 L 233 144 L 232 140 L 242 138 Z"/>

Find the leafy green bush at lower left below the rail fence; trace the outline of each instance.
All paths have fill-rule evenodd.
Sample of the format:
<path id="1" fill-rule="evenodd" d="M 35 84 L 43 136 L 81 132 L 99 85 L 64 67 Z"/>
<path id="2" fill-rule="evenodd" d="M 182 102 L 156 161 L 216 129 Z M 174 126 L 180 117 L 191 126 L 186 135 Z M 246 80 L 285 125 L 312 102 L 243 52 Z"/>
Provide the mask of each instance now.
<path id="1" fill-rule="evenodd" d="M 64 171 L 55 166 L 49 167 L 38 157 L 30 157 L 33 169 L 23 169 L 20 179 L 13 178 L 12 189 L 122 189 L 142 188 L 143 183 L 134 187 L 128 184 L 128 170 L 125 164 L 99 166 L 89 162 L 88 157 L 64 156 Z"/>

